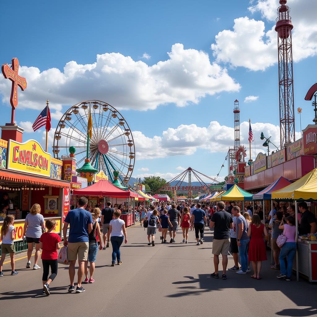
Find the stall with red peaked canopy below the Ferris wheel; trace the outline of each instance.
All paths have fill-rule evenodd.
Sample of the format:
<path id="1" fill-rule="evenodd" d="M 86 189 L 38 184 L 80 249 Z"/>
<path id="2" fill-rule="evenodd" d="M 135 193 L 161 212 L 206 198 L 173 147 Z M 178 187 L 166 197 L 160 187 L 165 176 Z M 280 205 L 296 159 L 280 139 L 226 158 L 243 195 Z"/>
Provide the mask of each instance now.
<path id="1" fill-rule="evenodd" d="M 121 204 L 123 208 L 120 218 L 124 220 L 126 226 L 131 226 L 134 223 L 133 208 L 137 195 L 131 191 L 120 189 L 107 180 L 100 180 L 86 188 L 74 190 L 73 195 L 87 197 L 88 203 L 90 199 L 98 197 L 104 200 L 104 205 L 106 201 L 110 201 L 113 206 Z"/>

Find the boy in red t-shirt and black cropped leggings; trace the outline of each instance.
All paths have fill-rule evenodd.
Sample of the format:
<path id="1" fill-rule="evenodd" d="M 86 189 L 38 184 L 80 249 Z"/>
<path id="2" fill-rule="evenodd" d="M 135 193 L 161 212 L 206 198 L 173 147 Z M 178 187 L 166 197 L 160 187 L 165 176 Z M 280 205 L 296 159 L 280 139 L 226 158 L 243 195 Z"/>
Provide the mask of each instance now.
<path id="1" fill-rule="evenodd" d="M 55 279 L 57 275 L 57 250 L 60 249 L 59 243 L 61 238 L 57 233 L 54 233 L 56 227 L 56 221 L 48 219 L 45 222 L 45 226 L 48 229 L 40 237 L 40 248 L 42 251 L 42 263 L 43 263 L 43 294 L 49 296 L 49 284 Z M 51 267 L 51 275 L 49 276 L 49 267 Z"/>

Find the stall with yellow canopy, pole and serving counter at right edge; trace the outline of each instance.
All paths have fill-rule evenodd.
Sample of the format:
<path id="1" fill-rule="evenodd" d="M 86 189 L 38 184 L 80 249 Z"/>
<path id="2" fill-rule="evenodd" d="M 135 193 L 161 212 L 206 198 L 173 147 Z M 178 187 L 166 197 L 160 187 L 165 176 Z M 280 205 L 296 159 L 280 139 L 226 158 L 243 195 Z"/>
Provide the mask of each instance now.
<path id="1" fill-rule="evenodd" d="M 308 278 L 309 282 L 317 282 L 317 234 L 298 235 L 298 207 L 297 203 L 306 201 L 310 204 L 310 211 L 316 216 L 317 206 L 317 169 L 296 182 L 272 192 L 272 199 L 277 201 L 291 201 L 295 204 L 295 222 L 296 222 L 296 268 L 297 281 L 299 273 Z"/>

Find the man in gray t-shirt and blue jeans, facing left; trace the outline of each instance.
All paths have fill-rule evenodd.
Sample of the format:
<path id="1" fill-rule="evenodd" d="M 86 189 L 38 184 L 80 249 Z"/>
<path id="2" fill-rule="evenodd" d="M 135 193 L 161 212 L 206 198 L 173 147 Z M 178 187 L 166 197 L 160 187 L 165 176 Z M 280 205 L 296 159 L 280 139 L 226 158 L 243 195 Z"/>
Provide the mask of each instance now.
<path id="1" fill-rule="evenodd" d="M 241 260 L 241 270 L 237 271 L 237 274 L 246 274 L 249 272 L 249 263 L 248 263 L 248 246 L 250 238 L 248 237 L 248 223 L 245 218 L 240 213 L 240 207 L 234 206 L 232 208 L 232 215 L 237 217 L 236 220 L 236 235 L 237 235 L 237 244 L 239 250 L 239 256 Z"/>

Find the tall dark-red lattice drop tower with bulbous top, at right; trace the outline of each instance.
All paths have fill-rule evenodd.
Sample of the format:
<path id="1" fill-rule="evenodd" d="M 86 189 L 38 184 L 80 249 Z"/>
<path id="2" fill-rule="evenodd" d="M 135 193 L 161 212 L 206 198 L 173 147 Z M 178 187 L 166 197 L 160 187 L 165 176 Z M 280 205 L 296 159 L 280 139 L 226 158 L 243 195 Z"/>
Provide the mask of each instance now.
<path id="1" fill-rule="evenodd" d="M 275 31 L 278 43 L 281 148 L 295 141 L 292 29 L 287 0 L 280 0 Z"/>

